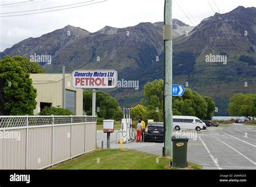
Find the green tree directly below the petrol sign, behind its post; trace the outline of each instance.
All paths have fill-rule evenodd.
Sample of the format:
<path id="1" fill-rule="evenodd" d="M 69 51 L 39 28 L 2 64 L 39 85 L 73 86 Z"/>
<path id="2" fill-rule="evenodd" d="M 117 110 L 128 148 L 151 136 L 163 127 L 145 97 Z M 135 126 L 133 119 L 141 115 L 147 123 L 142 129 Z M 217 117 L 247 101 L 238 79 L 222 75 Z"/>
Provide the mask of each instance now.
<path id="1" fill-rule="evenodd" d="M 87 115 L 92 114 L 92 91 L 84 90 L 83 108 Z M 103 91 L 96 92 L 96 112 L 99 118 L 104 119 L 117 118 L 117 116 L 121 114 L 118 101 L 109 93 Z"/>

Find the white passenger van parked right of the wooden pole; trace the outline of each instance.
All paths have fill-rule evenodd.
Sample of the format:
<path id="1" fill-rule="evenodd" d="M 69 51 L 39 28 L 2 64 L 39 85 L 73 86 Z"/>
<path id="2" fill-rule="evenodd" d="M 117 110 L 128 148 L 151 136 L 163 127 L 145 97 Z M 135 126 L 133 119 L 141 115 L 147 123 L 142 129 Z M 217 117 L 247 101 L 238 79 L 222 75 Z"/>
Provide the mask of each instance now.
<path id="1" fill-rule="evenodd" d="M 206 129 L 206 125 L 199 118 L 194 116 L 173 116 L 173 128 L 179 130 L 196 130 Z"/>

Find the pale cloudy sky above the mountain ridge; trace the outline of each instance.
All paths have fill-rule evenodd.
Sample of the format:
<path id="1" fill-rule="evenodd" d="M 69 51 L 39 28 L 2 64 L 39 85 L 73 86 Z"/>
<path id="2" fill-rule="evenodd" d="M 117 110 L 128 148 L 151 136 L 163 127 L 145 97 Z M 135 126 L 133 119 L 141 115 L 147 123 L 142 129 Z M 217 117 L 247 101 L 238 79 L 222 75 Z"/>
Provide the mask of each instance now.
<path id="1" fill-rule="evenodd" d="M 255 0 L 173 0 L 173 18 L 195 26 L 214 15 L 208 2 L 220 13 L 239 5 L 256 6 Z M 163 21 L 163 13 L 164 0 L 1 0 L 0 51 L 66 25 L 96 32 L 106 25 L 122 28 Z"/>

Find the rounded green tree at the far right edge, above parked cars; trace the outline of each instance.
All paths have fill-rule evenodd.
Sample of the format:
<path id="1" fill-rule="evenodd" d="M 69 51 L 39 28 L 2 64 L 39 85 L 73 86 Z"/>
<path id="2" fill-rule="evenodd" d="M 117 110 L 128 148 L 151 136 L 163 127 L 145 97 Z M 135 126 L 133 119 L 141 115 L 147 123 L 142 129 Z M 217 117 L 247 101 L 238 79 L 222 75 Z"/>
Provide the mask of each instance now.
<path id="1" fill-rule="evenodd" d="M 228 113 L 230 113 L 231 116 L 253 117 L 255 114 L 253 110 L 255 99 L 256 94 L 235 93 L 230 98 Z"/>

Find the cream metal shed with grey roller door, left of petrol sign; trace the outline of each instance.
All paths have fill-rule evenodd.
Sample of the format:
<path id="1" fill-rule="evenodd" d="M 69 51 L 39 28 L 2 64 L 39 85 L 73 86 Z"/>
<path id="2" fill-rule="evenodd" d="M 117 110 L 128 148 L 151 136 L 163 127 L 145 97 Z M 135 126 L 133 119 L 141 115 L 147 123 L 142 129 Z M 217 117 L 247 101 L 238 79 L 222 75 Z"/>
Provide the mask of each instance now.
<path id="1" fill-rule="evenodd" d="M 62 107 L 62 74 L 30 74 L 30 78 L 37 89 L 34 114 L 38 114 L 45 106 Z M 83 115 L 83 89 L 72 87 L 71 74 L 65 74 L 65 90 L 65 108 L 77 116 Z"/>

